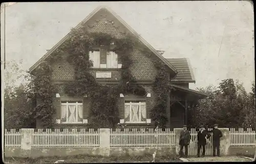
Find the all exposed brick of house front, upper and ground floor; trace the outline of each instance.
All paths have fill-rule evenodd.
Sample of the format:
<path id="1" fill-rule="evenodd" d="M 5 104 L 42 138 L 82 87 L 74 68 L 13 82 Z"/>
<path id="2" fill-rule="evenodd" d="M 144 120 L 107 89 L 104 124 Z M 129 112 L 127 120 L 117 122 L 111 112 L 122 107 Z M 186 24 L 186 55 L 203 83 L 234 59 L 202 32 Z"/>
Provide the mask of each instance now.
<path id="1" fill-rule="evenodd" d="M 114 23 L 112 23 L 112 21 Z M 107 22 L 107 23 L 106 23 Z M 111 22 L 111 23 L 110 23 Z M 114 35 L 116 38 L 122 38 L 123 32 L 127 32 L 124 26 L 115 19 L 115 17 L 110 14 L 108 11 L 101 9 L 97 12 L 90 20 L 87 21 L 87 25 L 89 26 L 89 32 L 104 32 Z M 52 72 L 52 80 L 55 87 L 55 92 L 63 95 L 63 82 L 67 80 L 74 79 L 74 66 L 70 65 L 67 61 L 67 54 L 63 54 L 62 59 L 56 61 L 51 68 Z M 100 54 L 102 56 L 102 54 Z M 154 80 L 157 75 L 157 69 L 154 66 L 153 61 L 159 60 L 154 56 L 147 56 L 147 54 L 143 54 L 139 51 L 138 48 L 134 48 L 131 53 L 130 58 L 132 59 L 132 65 L 130 66 L 131 73 L 137 80 Z M 105 63 L 106 61 L 101 58 L 101 63 Z M 120 64 L 120 61 L 118 62 Z M 112 77 L 108 79 L 117 80 L 121 78 L 121 70 L 107 69 L 107 68 L 90 68 L 90 73 L 93 76 L 96 76 L 96 72 L 111 72 Z M 150 118 L 150 112 L 156 103 L 156 95 L 153 92 L 153 84 L 141 84 L 143 88 L 145 88 L 147 93 L 151 93 L 151 97 L 146 97 L 146 116 Z M 79 97 L 68 97 L 61 96 L 61 98 L 56 98 L 55 93 L 53 95 L 53 103 L 56 108 L 56 112 L 53 116 L 53 121 L 55 119 L 61 118 L 61 101 L 65 100 L 82 100 L 83 101 L 83 119 L 88 119 L 90 123 L 92 116 L 90 116 L 90 98 L 79 98 Z M 124 119 L 124 98 L 118 98 L 117 101 L 119 108 L 119 118 Z M 167 127 L 170 125 L 170 111 L 169 111 L 169 103 L 167 104 L 166 110 L 168 116 Z M 37 128 L 40 127 L 40 121 L 37 122 Z M 129 127 L 150 127 L 151 125 L 129 125 Z M 86 127 L 86 124 L 56 124 L 56 127 Z"/>

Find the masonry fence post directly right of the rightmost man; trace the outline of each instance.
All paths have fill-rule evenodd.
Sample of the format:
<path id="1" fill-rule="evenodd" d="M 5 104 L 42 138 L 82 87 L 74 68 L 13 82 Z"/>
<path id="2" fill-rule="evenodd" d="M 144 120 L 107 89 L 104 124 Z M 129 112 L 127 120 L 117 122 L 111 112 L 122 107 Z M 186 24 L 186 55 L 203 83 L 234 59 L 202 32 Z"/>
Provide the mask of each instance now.
<path id="1" fill-rule="evenodd" d="M 220 139 L 220 155 L 228 155 L 228 148 L 230 147 L 230 135 L 228 128 L 219 128 L 222 132 Z"/>

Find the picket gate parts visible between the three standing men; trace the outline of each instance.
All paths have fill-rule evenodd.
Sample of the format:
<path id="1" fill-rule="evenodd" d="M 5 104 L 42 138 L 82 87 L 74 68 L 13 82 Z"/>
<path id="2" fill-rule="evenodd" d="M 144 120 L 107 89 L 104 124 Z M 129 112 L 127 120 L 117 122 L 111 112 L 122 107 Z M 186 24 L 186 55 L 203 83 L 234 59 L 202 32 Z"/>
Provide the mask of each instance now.
<path id="1" fill-rule="evenodd" d="M 208 128 L 208 131 L 210 131 L 212 128 Z M 190 143 L 188 145 L 188 155 L 197 155 L 197 133 L 195 128 L 190 129 Z M 212 135 L 212 134 L 211 134 Z M 206 146 L 205 146 L 205 155 L 212 155 L 212 137 L 210 137 L 208 140 L 206 140 Z M 185 148 L 184 148 L 185 149 Z M 184 150 L 183 150 L 184 151 Z M 200 150 L 200 156 L 202 155 L 203 149 Z"/>

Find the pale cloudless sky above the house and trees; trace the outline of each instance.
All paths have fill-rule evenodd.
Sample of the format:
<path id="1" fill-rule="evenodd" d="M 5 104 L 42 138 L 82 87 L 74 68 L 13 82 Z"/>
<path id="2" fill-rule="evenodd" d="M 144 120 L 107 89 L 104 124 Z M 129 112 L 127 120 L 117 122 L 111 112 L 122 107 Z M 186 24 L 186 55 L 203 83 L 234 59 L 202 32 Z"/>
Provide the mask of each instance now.
<path id="1" fill-rule="evenodd" d="M 254 22 L 248 1 L 17 3 L 6 8 L 6 61 L 23 60 L 28 70 L 100 5 L 164 50 L 165 58 L 189 58 L 196 79 L 190 89 L 233 78 L 251 90 Z"/>

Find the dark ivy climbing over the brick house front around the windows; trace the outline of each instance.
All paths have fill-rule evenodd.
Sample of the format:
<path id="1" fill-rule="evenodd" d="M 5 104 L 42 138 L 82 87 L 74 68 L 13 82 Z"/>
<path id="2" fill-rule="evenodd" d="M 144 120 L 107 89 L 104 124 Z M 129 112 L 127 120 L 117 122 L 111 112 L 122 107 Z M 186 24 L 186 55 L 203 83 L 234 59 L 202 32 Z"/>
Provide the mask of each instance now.
<path id="1" fill-rule="evenodd" d="M 89 50 L 92 46 L 103 46 L 107 50 L 112 48 L 111 50 L 118 54 L 122 63 L 121 79 L 118 85 L 101 85 L 89 72 L 90 67 L 93 66 L 92 61 L 89 60 Z M 69 54 L 67 61 L 74 65 L 75 80 L 64 84 L 65 94 L 80 97 L 88 95 L 93 100 L 90 105 L 90 111 L 94 116 L 91 122 L 92 127 L 114 127 L 119 122 L 117 107 L 119 93 L 146 94 L 145 89 L 137 84 L 129 69 L 132 64 L 130 54 L 135 46 L 139 47 L 143 53 L 152 53 L 133 36 L 117 39 L 106 33 L 89 33 L 86 26 L 72 29 L 69 39 L 51 55 L 48 61 L 40 65 L 33 81 L 34 92 L 42 100 L 42 103 L 36 106 L 36 111 L 37 118 L 44 123 L 43 126 L 52 125 L 52 115 L 55 111 L 51 99 L 53 86 L 50 64 L 55 62 L 60 54 L 66 53 Z M 162 62 L 155 62 L 155 66 L 158 69 L 154 81 L 157 102 L 151 111 L 151 116 L 153 121 L 159 122 L 159 127 L 164 127 L 167 122 L 166 107 L 170 90 L 168 72 Z"/>

